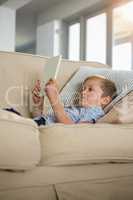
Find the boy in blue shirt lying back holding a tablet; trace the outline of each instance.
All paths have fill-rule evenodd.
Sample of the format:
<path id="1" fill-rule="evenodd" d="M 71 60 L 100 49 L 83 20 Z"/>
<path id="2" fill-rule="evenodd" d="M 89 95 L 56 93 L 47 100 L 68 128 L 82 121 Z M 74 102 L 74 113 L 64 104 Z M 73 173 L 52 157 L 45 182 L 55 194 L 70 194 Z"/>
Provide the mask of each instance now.
<path id="1" fill-rule="evenodd" d="M 44 116 L 41 112 L 43 98 L 39 97 L 40 89 L 40 81 L 37 81 L 32 94 L 34 103 L 40 107 L 40 113 L 34 118 L 39 126 L 50 123 L 95 123 L 104 115 L 104 107 L 116 97 L 116 86 L 112 81 L 102 76 L 91 76 L 83 82 L 80 106 L 64 108 L 60 102 L 57 82 L 50 79 L 44 90 L 54 115 Z"/>

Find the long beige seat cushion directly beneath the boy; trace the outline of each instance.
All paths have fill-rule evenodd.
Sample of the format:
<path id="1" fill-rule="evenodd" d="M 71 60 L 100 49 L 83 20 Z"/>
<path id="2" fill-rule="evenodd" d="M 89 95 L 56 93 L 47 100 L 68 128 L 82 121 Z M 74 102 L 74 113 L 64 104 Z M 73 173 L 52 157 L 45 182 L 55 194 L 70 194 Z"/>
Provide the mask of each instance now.
<path id="1" fill-rule="evenodd" d="M 41 165 L 133 162 L 133 125 L 55 124 L 40 128 Z"/>

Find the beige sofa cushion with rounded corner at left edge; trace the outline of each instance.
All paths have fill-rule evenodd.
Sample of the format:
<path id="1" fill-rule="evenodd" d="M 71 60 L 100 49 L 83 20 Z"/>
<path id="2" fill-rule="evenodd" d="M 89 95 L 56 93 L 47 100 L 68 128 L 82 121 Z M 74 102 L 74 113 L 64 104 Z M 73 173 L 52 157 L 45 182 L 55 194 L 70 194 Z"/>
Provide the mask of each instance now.
<path id="1" fill-rule="evenodd" d="M 35 122 L 0 110 L 0 169 L 28 170 L 40 161 L 39 131 Z"/>

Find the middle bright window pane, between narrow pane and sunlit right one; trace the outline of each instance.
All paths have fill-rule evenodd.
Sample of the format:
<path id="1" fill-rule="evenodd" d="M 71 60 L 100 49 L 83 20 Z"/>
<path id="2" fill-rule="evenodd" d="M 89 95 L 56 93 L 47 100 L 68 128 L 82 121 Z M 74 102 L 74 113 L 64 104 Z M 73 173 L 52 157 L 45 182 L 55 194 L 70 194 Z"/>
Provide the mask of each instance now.
<path id="1" fill-rule="evenodd" d="M 86 60 L 106 63 L 106 13 L 87 20 Z"/>

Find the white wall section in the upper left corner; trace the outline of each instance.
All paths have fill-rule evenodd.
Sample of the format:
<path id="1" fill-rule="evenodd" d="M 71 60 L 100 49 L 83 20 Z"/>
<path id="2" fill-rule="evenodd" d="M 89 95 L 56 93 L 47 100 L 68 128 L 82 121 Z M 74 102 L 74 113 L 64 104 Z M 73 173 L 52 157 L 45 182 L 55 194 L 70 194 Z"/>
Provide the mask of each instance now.
<path id="1" fill-rule="evenodd" d="M 15 50 L 15 18 L 16 12 L 0 6 L 0 50 Z"/>

